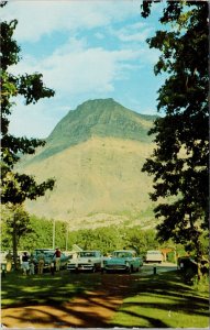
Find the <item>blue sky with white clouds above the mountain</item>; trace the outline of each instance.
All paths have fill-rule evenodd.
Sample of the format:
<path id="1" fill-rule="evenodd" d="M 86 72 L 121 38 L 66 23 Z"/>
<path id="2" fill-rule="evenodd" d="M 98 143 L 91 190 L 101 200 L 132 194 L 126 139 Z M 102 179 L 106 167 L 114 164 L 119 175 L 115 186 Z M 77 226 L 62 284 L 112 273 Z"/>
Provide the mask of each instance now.
<path id="1" fill-rule="evenodd" d="M 140 0 L 10 1 L 3 19 L 18 19 L 14 37 L 21 62 L 13 74 L 42 73 L 54 98 L 25 107 L 15 100 L 10 132 L 46 138 L 57 122 L 89 99 L 113 98 L 140 113 L 156 112 L 162 76 L 154 76 L 158 51 L 146 38 L 159 29 L 162 3 L 141 18 Z"/>

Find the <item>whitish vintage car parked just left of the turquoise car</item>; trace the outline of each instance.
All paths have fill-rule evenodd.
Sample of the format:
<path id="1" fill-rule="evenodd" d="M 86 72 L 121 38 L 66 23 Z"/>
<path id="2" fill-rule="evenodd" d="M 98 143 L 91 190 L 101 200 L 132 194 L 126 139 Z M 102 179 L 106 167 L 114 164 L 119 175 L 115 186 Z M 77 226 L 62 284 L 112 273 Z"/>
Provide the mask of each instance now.
<path id="1" fill-rule="evenodd" d="M 70 272 L 91 271 L 92 273 L 101 270 L 102 255 L 100 251 L 80 251 L 77 257 L 73 257 L 67 263 Z"/>

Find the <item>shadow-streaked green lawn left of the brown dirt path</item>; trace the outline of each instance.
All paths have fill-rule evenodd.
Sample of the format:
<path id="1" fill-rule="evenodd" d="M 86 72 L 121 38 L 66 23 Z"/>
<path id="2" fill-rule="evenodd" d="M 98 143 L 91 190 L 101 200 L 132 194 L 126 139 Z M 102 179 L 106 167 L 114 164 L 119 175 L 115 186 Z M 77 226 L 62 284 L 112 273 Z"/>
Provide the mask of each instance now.
<path id="1" fill-rule="evenodd" d="M 62 271 L 54 276 L 49 273 L 24 276 L 11 272 L 1 280 L 1 307 L 56 305 L 69 301 L 86 289 L 97 288 L 100 279 L 92 280 L 92 275 L 95 274 L 69 274 Z"/>

